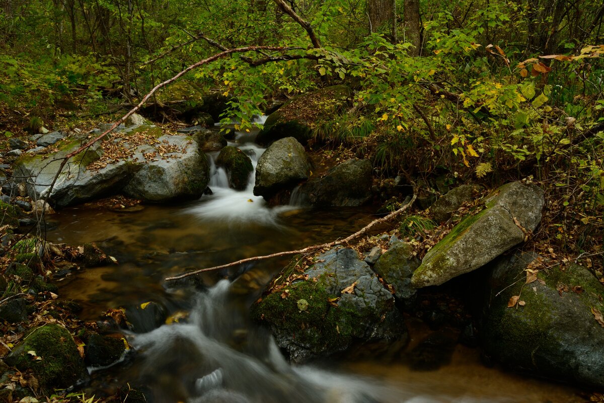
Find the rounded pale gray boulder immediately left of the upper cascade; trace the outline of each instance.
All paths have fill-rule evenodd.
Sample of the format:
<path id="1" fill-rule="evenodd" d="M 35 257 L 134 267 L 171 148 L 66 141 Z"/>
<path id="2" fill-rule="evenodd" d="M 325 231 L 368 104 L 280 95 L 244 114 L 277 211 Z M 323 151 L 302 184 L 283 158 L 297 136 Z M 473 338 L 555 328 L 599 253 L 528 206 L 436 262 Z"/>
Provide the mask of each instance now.
<path id="1" fill-rule="evenodd" d="M 145 201 L 165 202 L 199 198 L 208 185 L 208 162 L 190 137 L 164 135 L 159 144 L 138 146 L 128 160 L 146 161 L 123 189 L 127 196 Z M 160 153 L 164 147 L 173 152 Z M 145 155 L 156 153 L 152 158 Z"/>

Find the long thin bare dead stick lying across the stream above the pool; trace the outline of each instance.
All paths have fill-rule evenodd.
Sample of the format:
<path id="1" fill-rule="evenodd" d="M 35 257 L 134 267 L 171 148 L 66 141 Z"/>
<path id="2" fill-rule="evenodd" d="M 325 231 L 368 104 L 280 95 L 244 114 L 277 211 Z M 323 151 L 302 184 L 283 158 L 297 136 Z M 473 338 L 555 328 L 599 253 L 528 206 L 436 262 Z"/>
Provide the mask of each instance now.
<path id="1" fill-rule="evenodd" d="M 407 208 L 409 208 L 413 204 L 413 202 L 415 201 L 416 197 L 417 197 L 416 193 L 414 193 L 413 198 L 411 198 L 411 201 L 408 202 L 407 204 L 403 205 L 403 207 L 399 208 L 399 210 L 393 211 L 392 213 L 388 214 L 385 217 L 382 217 L 382 218 L 379 218 L 377 220 L 371 221 L 365 227 L 361 228 L 361 230 L 355 232 L 354 234 L 352 234 L 349 237 L 347 237 L 345 239 L 342 239 L 342 240 L 334 240 L 333 242 L 329 242 L 329 243 L 321 243 L 321 245 L 313 245 L 312 247 L 306 247 L 306 248 L 298 249 L 298 250 L 295 250 L 295 251 L 284 251 L 284 252 L 272 253 L 272 254 L 265 255 L 265 256 L 247 257 L 246 259 L 237 260 L 237 262 L 227 263 L 226 265 L 208 267 L 207 269 L 199 269 L 199 270 L 191 271 L 191 272 L 188 272 L 188 273 L 185 273 L 185 274 L 181 274 L 180 276 L 167 277 L 164 280 L 165 281 L 179 280 L 179 279 L 184 279 L 185 277 L 188 277 L 188 276 L 194 276 L 195 274 L 199 274 L 199 273 L 202 273 L 202 272 L 205 272 L 205 271 L 213 271 L 213 270 L 217 270 L 217 269 L 223 269 L 223 268 L 226 268 L 226 267 L 240 265 L 242 263 L 255 262 L 256 260 L 265 260 L 265 259 L 270 259 L 271 257 L 280 257 L 280 256 L 294 255 L 294 254 L 298 254 L 298 253 L 307 253 L 307 252 L 312 252 L 312 251 L 320 250 L 320 249 L 323 249 L 323 248 L 333 248 L 333 247 L 335 247 L 337 245 L 342 245 L 342 243 L 348 243 L 351 240 L 356 239 L 359 236 L 364 235 L 365 233 L 367 233 L 367 231 L 369 231 L 371 228 L 375 227 L 378 224 L 382 224 L 383 222 L 387 222 L 388 220 L 391 220 L 393 218 L 396 218 L 397 216 L 400 216 L 400 214 L 402 214 L 405 210 L 407 210 Z"/>

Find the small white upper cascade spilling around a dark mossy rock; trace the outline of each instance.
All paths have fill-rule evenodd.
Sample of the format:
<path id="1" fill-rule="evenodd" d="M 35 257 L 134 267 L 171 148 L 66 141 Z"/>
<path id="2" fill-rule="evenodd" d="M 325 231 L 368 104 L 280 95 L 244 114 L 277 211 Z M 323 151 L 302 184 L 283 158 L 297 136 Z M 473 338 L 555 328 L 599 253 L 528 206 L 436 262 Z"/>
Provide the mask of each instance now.
<path id="1" fill-rule="evenodd" d="M 264 123 L 266 116 L 255 120 L 257 123 Z M 229 141 L 228 145 L 238 147 L 252 161 L 254 171 L 249 175 L 248 186 L 243 191 L 231 189 L 228 185 L 228 176 L 222 167 L 216 166 L 216 158 L 219 153 L 208 154 L 210 161 L 210 182 L 209 187 L 211 195 L 205 195 L 201 198 L 198 205 L 189 208 L 186 213 L 193 214 L 198 218 L 216 221 L 226 221 L 230 224 L 262 224 L 278 225 L 278 215 L 287 210 L 292 210 L 292 206 L 280 206 L 270 208 L 262 196 L 254 196 L 255 169 L 258 159 L 266 149 L 254 143 L 257 131 L 236 132 L 234 141 Z"/>

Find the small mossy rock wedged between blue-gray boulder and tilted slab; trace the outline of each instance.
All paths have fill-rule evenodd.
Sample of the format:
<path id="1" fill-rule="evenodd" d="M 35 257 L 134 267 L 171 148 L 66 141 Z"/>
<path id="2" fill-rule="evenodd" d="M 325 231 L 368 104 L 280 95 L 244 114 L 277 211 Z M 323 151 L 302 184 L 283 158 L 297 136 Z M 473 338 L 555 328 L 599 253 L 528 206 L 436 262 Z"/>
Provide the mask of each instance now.
<path id="1" fill-rule="evenodd" d="M 420 260 L 413 256 L 411 244 L 399 241 L 382 254 L 373 266 L 373 271 L 394 286 L 396 298 L 411 302 L 416 295 L 416 288 L 411 286 L 411 276 L 420 263 Z"/>

